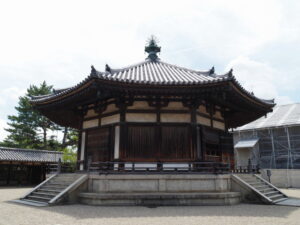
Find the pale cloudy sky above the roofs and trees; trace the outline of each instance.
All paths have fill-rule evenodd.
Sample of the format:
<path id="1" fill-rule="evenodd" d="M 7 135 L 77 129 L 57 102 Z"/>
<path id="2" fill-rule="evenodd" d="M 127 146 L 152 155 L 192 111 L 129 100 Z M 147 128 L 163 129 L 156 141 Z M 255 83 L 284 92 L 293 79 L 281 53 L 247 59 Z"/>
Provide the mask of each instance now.
<path id="1" fill-rule="evenodd" d="M 165 62 L 214 66 L 217 74 L 233 68 L 256 96 L 300 102 L 299 12 L 296 0 L 0 0 L 0 140 L 31 84 L 65 88 L 91 65 L 103 71 L 106 63 L 143 61 L 151 35 Z"/>

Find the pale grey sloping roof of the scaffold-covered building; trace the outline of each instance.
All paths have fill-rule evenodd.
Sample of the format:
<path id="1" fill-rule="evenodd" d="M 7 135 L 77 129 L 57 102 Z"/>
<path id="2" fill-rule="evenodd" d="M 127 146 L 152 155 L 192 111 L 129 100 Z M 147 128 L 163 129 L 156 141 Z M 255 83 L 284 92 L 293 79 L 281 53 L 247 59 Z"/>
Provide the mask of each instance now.
<path id="1" fill-rule="evenodd" d="M 273 112 L 248 123 L 237 130 L 264 129 L 271 127 L 300 126 L 300 103 L 275 106 Z"/>

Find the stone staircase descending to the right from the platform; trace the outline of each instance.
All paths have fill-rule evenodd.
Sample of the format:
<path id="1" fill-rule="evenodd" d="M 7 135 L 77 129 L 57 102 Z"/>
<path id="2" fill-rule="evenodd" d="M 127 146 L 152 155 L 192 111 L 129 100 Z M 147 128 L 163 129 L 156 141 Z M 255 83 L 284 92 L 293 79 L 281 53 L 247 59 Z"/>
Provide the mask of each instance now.
<path id="1" fill-rule="evenodd" d="M 277 204 L 288 199 L 278 188 L 256 174 L 234 174 L 232 179 L 251 189 L 267 204 Z"/>

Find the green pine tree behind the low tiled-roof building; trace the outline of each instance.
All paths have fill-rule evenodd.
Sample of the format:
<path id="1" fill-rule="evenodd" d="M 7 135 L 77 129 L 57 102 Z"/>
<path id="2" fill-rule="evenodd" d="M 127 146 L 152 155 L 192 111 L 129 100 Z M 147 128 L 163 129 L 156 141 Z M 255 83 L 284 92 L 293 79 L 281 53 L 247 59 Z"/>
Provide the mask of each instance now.
<path id="1" fill-rule="evenodd" d="M 53 87 L 45 81 L 39 86 L 31 85 L 27 89 L 27 93 L 19 98 L 18 106 L 15 107 L 17 115 L 8 116 L 9 128 L 6 131 L 9 135 L 0 145 L 60 151 L 64 148 L 74 149 L 77 144 L 77 131 L 58 126 L 30 104 L 31 96 L 47 95 L 52 91 Z M 53 135 L 55 131 L 63 131 L 62 141 L 58 141 Z"/>

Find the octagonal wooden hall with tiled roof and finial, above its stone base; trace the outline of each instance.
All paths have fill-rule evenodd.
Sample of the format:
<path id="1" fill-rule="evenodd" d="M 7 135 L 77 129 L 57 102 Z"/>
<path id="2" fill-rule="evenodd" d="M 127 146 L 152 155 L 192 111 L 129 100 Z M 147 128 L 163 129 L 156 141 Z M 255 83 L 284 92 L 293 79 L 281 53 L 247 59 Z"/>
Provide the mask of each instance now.
<path id="1" fill-rule="evenodd" d="M 150 39 L 145 61 L 105 66 L 77 85 L 33 97 L 43 115 L 80 130 L 79 169 L 88 162 L 233 161 L 229 128 L 272 111 L 273 100 L 246 91 L 232 70 L 198 71 L 163 62 Z M 118 164 L 119 165 L 119 164 Z M 124 165 L 123 165 L 124 166 Z"/>

